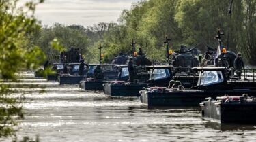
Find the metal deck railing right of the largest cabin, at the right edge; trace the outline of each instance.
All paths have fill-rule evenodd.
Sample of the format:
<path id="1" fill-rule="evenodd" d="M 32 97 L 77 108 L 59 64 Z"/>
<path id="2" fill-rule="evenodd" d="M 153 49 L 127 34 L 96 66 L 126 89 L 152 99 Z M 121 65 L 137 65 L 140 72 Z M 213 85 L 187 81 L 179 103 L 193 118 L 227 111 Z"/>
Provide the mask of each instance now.
<path id="1" fill-rule="evenodd" d="M 255 82 L 256 69 L 229 69 L 228 82 Z"/>

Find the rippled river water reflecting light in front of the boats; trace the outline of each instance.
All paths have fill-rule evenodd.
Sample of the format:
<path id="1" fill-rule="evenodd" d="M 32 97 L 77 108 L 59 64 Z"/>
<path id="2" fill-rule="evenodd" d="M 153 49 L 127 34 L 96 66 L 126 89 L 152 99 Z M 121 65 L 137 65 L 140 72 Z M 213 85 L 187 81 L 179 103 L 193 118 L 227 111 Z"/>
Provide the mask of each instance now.
<path id="1" fill-rule="evenodd" d="M 209 122 L 197 109 L 149 110 L 139 99 L 110 99 L 102 92 L 35 79 L 32 73 L 23 76 L 12 83 L 14 93 L 25 93 L 27 99 L 18 137 L 39 135 L 45 142 L 256 141 L 256 126 Z"/>

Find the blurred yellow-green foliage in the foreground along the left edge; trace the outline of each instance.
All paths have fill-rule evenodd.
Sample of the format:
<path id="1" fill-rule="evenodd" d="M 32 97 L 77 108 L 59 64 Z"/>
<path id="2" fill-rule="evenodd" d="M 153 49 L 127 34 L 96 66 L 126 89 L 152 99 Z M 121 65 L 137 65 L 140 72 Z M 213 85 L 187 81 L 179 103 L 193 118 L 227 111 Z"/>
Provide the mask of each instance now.
<path id="1" fill-rule="evenodd" d="M 45 56 L 31 42 L 33 30 L 38 29 L 33 13 L 42 1 L 17 7 L 18 0 L 0 1 L 0 137 L 15 134 L 14 126 L 23 118 L 22 99 L 12 97 L 10 86 L 3 80 L 16 80 L 15 73 L 36 69 Z"/>

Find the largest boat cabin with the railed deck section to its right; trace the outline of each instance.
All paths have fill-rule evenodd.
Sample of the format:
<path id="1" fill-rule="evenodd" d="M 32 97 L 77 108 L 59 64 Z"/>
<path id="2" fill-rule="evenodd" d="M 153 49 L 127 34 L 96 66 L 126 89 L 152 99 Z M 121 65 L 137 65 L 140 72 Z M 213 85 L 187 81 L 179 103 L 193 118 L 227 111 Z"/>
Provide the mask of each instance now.
<path id="1" fill-rule="evenodd" d="M 255 69 L 226 69 L 225 67 L 195 67 L 193 71 L 199 74 L 197 82 L 193 82 L 192 88 L 197 89 L 238 89 L 254 88 Z M 237 77 L 236 71 L 241 71 L 241 76 Z"/>

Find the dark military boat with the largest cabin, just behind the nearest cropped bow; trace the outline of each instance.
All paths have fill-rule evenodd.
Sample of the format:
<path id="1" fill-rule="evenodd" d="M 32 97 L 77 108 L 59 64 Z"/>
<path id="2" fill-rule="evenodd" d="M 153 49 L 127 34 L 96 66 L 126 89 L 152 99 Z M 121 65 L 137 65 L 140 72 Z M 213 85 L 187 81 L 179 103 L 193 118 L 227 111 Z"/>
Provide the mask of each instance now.
<path id="1" fill-rule="evenodd" d="M 191 88 L 146 88 L 140 91 L 141 102 L 148 107 L 184 107 L 198 106 L 206 97 L 216 98 L 225 94 L 256 96 L 255 69 L 195 67 L 193 71 L 195 75 L 199 74 L 199 79 Z M 242 71 L 242 76 L 234 75 L 236 71 Z"/>

